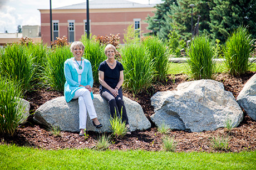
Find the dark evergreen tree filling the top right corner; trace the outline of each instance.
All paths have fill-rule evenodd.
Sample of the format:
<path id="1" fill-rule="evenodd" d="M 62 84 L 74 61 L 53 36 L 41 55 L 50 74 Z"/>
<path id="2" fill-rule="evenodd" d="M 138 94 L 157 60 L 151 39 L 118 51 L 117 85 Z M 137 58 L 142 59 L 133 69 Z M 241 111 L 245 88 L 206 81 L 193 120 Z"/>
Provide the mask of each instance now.
<path id="1" fill-rule="evenodd" d="M 213 0 L 211 5 L 209 25 L 213 38 L 224 42 L 241 24 L 248 25 L 249 32 L 256 37 L 255 0 Z"/>

